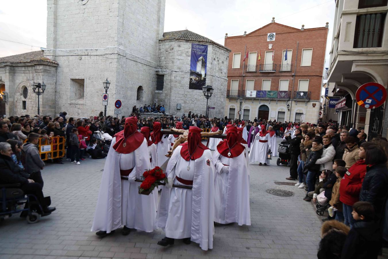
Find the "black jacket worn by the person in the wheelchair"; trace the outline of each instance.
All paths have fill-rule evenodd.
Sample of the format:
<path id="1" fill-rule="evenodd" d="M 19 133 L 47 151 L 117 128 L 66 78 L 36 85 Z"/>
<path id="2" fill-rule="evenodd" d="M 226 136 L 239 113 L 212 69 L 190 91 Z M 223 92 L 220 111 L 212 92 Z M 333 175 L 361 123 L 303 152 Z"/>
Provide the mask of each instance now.
<path id="1" fill-rule="evenodd" d="M 0 154 L 0 183 L 1 184 L 27 184 L 29 175 L 21 170 L 10 156 Z"/>

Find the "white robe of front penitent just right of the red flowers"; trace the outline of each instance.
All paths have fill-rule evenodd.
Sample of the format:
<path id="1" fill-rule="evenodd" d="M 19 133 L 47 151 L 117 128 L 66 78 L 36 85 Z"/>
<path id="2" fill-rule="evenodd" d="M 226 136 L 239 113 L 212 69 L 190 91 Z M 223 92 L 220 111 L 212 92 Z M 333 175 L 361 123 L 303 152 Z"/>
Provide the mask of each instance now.
<path id="1" fill-rule="evenodd" d="M 214 172 L 211 151 L 205 150 L 196 160 L 186 161 L 178 146 L 168 161 L 166 174 L 174 184 L 185 185 L 176 176 L 192 180 L 192 189 L 163 188 L 156 216 L 156 226 L 169 238 L 191 238 L 203 250 L 213 248 L 214 234 Z M 187 166 L 190 169 L 187 170 Z"/>

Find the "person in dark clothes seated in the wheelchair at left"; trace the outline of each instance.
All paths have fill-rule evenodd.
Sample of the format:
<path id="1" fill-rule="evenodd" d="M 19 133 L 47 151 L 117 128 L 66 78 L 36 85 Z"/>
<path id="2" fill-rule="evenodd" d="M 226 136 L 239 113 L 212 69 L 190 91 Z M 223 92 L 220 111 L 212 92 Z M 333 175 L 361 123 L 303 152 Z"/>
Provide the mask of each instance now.
<path id="1" fill-rule="evenodd" d="M 42 184 L 35 183 L 29 179 L 29 174 L 18 167 L 11 158 L 12 148 L 9 143 L 0 142 L 0 184 L 21 184 L 20 189 L 24 194 L 35 195 L 37 202 L 43 209 L 42 216 L 47 216 L 55 210 L 55 207 L 49 207 L 42 192 Z"/>

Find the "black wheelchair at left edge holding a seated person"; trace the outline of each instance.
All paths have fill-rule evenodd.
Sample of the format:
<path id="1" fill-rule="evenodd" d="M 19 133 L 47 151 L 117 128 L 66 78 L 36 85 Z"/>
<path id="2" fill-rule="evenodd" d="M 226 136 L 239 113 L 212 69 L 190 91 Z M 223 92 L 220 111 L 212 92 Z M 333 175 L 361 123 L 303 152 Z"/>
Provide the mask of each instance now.
<path id="1" fill-rule="evenodd" d="M 35 195 L 25 195 L 20 188 L 20 184 L 2 184 L 0 185 L 0 221 L 6 216 L 22 213 L 21 217 L 26 217 L 29 224 L 36 223 L 43 214 L 43 209 Z M 51 199 L 45 197 L 47 205 L 51 204 Z M 19 206 L 24 205 L 24 209 Z"/>

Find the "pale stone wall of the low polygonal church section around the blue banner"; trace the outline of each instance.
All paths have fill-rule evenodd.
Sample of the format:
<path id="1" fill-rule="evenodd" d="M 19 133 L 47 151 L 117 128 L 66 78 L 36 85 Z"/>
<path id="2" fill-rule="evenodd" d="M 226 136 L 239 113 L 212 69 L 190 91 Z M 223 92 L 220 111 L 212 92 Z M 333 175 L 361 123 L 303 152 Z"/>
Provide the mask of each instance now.
<path id="1" fill-rule="evenodd" d="M 163 91 L 155 91 L 154 103 L 165 104 L 166 112 L 181 116 L 192 113 L 206 113 L 206 98 L 202 90 L 189 89 L 191 43 L 181 40 L 159 42 L 159 70 L 164 75 Z M 223 117 L 225 112 L 225 92 L 227 87 L 227 66 L 229 52 L 215 45 L 208 45 L 206 85 L 214 88 L 208 105 L 210 117 Z M 182 108 L 177 110 L 177 104 Z"/>

